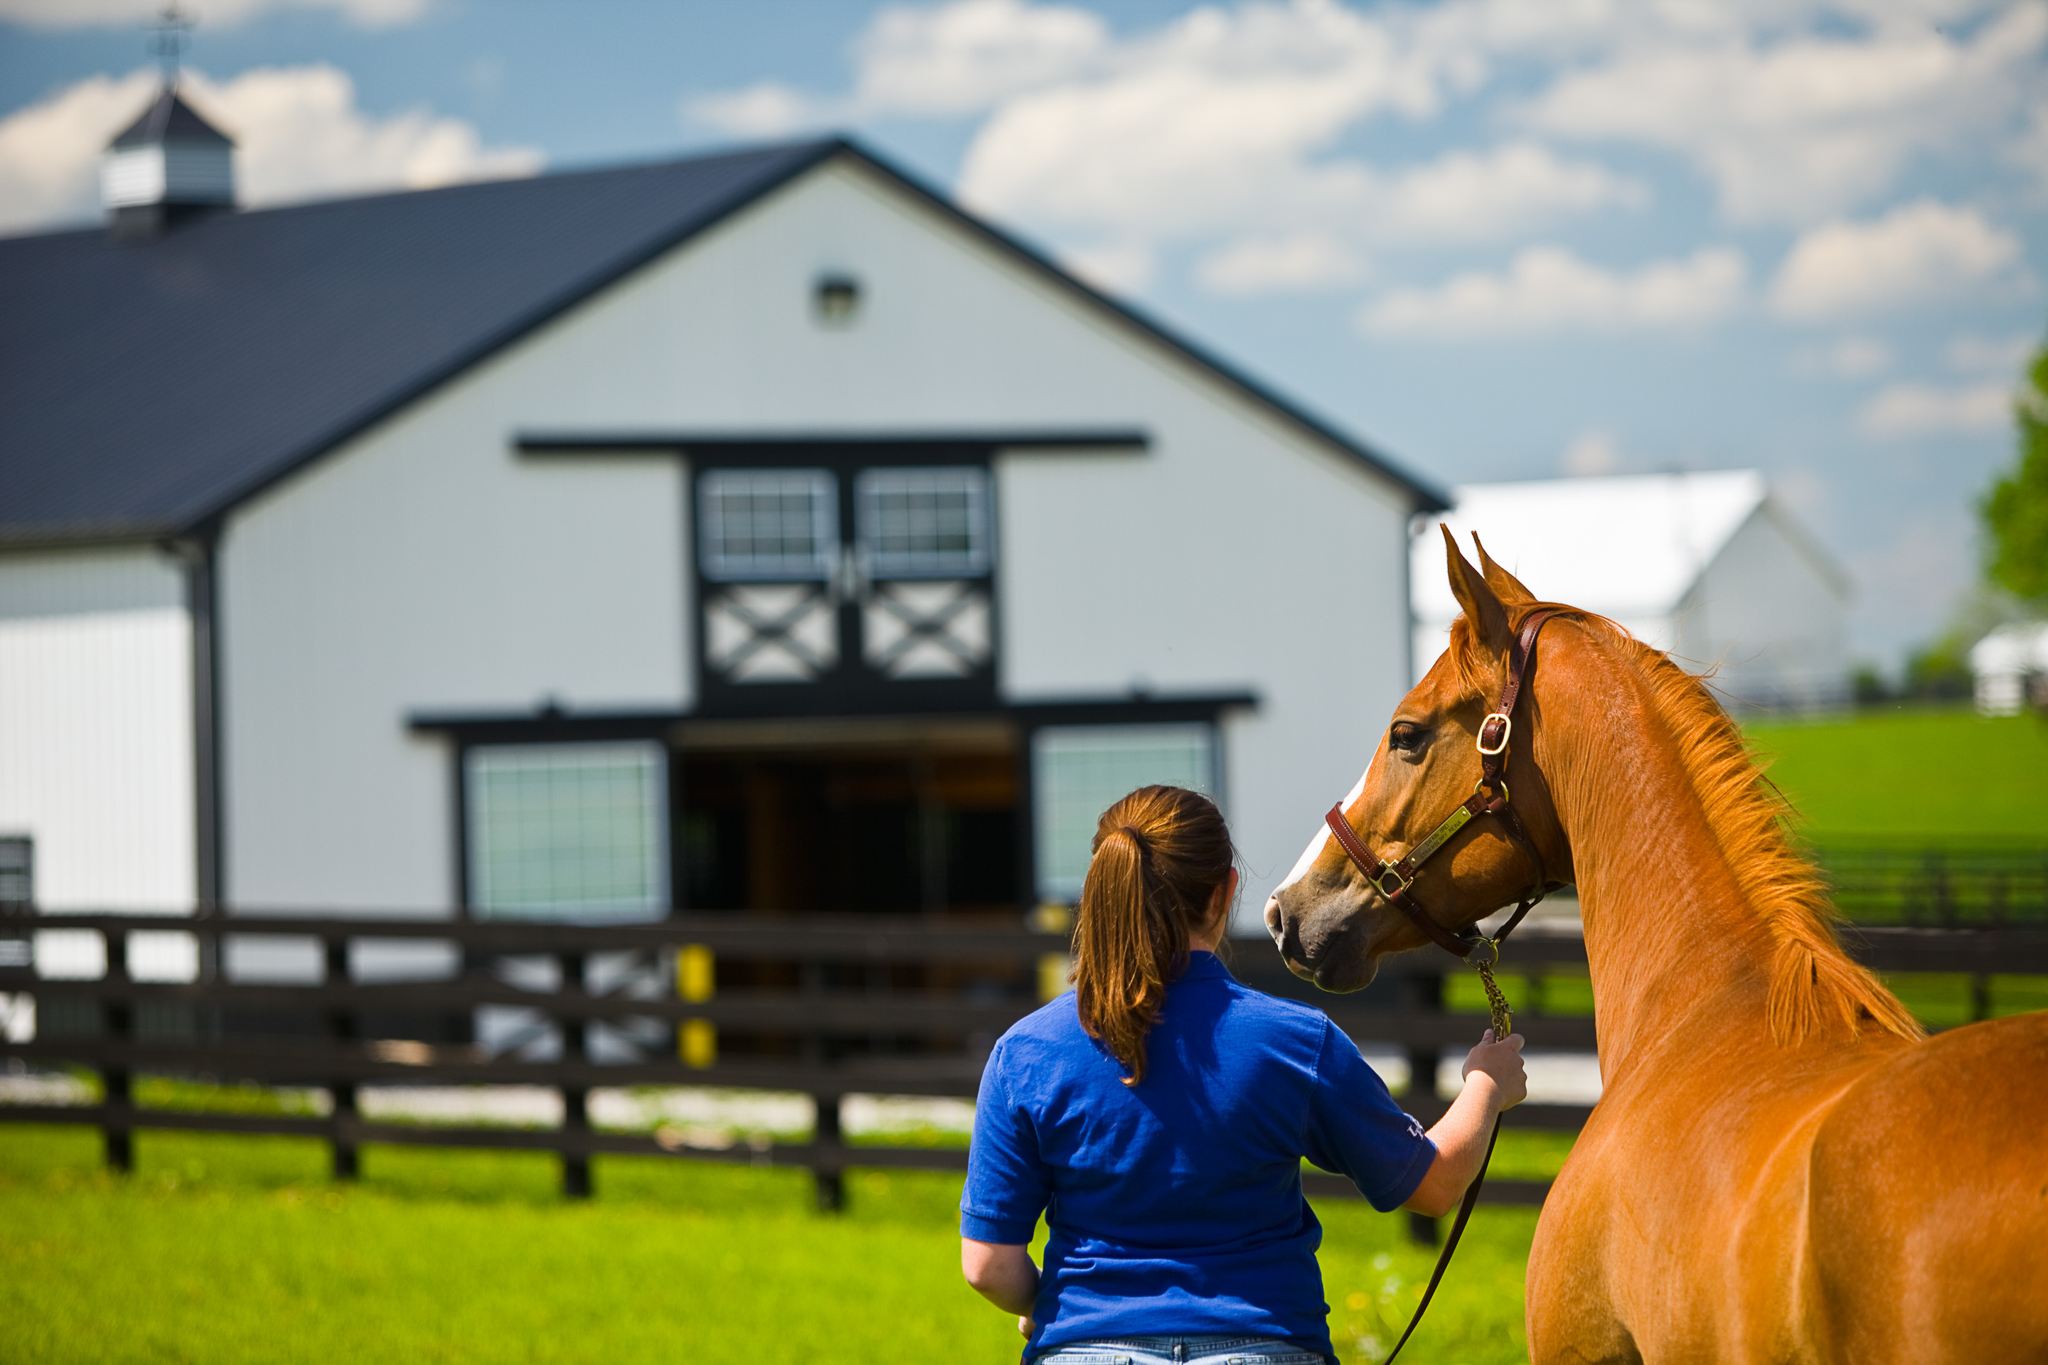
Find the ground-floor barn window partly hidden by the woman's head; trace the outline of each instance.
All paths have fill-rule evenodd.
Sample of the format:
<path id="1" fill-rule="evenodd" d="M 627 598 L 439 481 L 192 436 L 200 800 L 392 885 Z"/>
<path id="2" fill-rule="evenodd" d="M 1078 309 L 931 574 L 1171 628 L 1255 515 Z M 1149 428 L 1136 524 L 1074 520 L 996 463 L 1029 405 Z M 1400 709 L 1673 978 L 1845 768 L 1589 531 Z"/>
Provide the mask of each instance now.
<path id="1" fill-rule="evenodd" d="M 1208 724 L 1073 724 L 1032 737 L 1038 898 L 1073 902 L 1087 876 L 1096 819 L 1151 784 L 1217 794 Z"/>

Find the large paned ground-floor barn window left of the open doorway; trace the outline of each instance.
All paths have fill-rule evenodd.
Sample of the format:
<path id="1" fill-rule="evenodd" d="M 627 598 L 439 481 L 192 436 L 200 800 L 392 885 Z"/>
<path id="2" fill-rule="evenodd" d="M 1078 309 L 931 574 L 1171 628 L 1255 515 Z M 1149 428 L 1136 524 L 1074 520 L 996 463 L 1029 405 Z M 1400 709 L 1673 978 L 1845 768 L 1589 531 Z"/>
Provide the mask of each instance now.
<path id="1" fill-rule="evenodd" d="M 469 902 L 487 919 L 668 913 L 668 763 L 657 743 L 465 755 Z"/>

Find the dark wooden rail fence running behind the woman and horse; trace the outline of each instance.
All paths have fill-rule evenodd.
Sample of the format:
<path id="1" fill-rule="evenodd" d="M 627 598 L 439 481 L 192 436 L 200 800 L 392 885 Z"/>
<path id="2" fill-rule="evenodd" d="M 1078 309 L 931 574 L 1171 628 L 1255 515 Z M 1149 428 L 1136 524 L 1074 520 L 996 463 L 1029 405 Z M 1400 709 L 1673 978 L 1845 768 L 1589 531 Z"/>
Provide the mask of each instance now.
<path id="1" fill-rule="evenodd" d="M 102 935 L 106 970 L 96 980 L 37 976 L 27 937 L 47 929 Z M 129 935 L 174 929 L 197 937 L 199 978 L 135 980 Z M 256 984 L 221 970 L 223 948 L 246 935 L 283 935 L 322 945 L 324 974 L 305 984 Z M 463 970 L 442 980 L 358 980 L 350 948 L 440 943 Z M 1855 954 L 1886 972 L 2048 972 L 2044 929 L 1862 929 Z M 141 919 L 133 915 L 35 915 L 0 921 L 0 990 L 37 1001 L 29 1042 L 0 1042 L 0 1056 L 98 1072 L 104 1097 L 92 1105 L 0 1105 L 0 1121 L 92 1124 L 104 1132 L 106 1160 L 127 1169 L 137 1128 L 240 1134 L 307 1134 L 332 1144 L 334 1175 L 356 1173 L 365 1142 L 465 1148 L 532 1148 L 561 1158 L 563 1193 L 590 1193 L 590 1158 L 600 1152 L 807 1166 L 817 1199 L 838 1207 L 844 1171 L 918 1166 L 961 1171 L 967 1152 L 930 1146 L 850 1146 L 840 1103 L 850 1093 L 973 1097 L 989 1044 L 1038 1005 L 1040 982 L 1057 980 L 1067 939 L 1022 927 L 852 915 L 686 915 L 653 925 L 526 925 L 504 921 L 420 921 L 297 915 Z M 594 958 L 637 960 L 639 990 L 592 990 Z M 492 964 L 551 958 L 557 988 L 508 984 Z M 1585 966 L 1571 933 L 1518 935 L 1503 970 L 1544 974 Z M 1415 1085 L 1407 1107 L 1425 1124 L 1446 1101 L 1434 1093 L 1440 1058 L 1470 1046 L 1481 1017 L 1446 1013 L 1440 954 L 1389 960 L 1366 993 L 1321 995 L 1296 980 L 1270 945 L 1241 941 L 1231 970 L 1262 990 L 1309 1001 L 1362 1046 L 1397 1046 Z M 721 964 L 715 974 L 711 964 Z M 1450 964 L 1448 970 L 1462 970 Z M 633 974 L 627 974 L 633 976 Z M 741 984 L 717 984 L 715 976 Z M 659 982 L 647 990 L 645 982 Z M 1982 993 L 1978 993 L 1982 999 Z M 520 1007 L 559 1031 L 559 1056 L 522 1058 L 465 1042 L 481 1007 Z M 635 1060 L 596 1060 L 590 1025 L 659 1029 L 664 1042 Z M 1532 1048 L 1593 1052 L 1593 1019 L 1524 1009 L 1518 1027 Z M 438 1040 L 438 1042 L 436 1042 Z M 717 1046 L 713 1046 L 717 1040 Z M 326 1115 L 211 1113 L 139 1107 L 137 1074 L 326 1087 Z M 563 1097 L 559 1128 L 432 1126 L 369 1121 L 362 1085 L 541 1085 Z M 698 1085 L 801 1091 L 817 1103 L 809 1142 L 686 1146 L 657 1134 L 604 1132 L 588 1117 L 592 1087 Z M 1583 1105 L 1524 1103 L 1511 1128 L 1577 1132 Z M 1350 1195 L 1339 1177 L 1309 1173 L 1317 1195 Z M 1487 1183 L 1495 1203 L 1542 1203 L 1546 1181 Z"/>

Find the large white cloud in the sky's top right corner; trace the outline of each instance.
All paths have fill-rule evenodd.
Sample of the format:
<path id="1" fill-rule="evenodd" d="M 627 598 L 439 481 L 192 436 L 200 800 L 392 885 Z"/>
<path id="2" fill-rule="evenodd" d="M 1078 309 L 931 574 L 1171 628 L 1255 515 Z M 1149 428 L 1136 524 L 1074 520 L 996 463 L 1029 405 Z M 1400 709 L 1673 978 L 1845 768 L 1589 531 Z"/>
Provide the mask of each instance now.
<path id="1" fill-rule="evenodd" d="M 1673 25 L 1559 78 L 1528 119 L 1677 151 L 1737 221 L 1815 221 L 1890 188 L 1915 153 L 1982 139 L 2040 80 L 2040 0 L 2005 6 L 1968 37 L 1870 8 L 1868 33 L 1802 31 L 1772 45 Z"/>

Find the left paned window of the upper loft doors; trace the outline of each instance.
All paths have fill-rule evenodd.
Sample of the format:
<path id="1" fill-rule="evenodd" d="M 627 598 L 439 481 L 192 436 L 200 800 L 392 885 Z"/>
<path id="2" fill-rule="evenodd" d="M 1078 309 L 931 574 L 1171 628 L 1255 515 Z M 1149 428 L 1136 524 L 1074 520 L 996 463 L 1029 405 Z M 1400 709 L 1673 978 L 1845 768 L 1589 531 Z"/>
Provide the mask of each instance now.
<path id="1" fill-rule="evenodd" d="M 823 469 L 713 469 L 696 508 L 707 579 L 825 579 L 840 559 L 838 483 Z"/>

